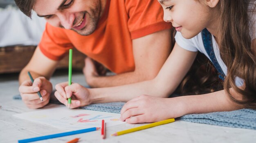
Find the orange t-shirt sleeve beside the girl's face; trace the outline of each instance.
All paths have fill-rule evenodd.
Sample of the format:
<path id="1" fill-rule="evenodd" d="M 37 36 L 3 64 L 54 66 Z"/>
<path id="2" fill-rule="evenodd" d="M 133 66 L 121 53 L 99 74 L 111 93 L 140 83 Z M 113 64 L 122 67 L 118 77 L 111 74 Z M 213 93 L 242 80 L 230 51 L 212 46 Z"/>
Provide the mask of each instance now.
<path id="1" fill-rule="evenodd" d="M 125 4 L 132 39 L 172 27 L 171 23 L 164 22 L 164 11 L 157 0 L 126 0 Z"/>

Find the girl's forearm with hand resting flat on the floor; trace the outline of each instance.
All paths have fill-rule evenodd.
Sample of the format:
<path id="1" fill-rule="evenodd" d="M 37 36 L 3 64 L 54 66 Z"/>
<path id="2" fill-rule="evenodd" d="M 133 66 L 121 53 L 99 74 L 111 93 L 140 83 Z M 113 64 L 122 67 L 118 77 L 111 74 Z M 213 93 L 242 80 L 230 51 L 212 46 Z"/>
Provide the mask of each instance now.
<path id="1" fill-rule="evenodd" d="M 232 89 L 231 94 L 237 99 L 242 97 Z M 243 108 L 243 106 L 232 102 L 224 90 L 177 98 L 157 98 L 141 95 L 124 105 L 120 120 L 129 124 L 150 123 L 186 114 L 233 111 L 240 108 Z"/>

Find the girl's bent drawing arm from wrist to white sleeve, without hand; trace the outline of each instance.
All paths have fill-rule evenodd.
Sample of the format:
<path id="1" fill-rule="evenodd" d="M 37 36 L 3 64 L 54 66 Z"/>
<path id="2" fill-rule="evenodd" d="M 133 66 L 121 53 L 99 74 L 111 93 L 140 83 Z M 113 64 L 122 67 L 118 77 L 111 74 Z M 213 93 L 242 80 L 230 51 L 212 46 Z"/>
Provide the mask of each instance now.
<path id="1" fill-rule="evenodd" d="M 175 44 L 173 51 L 153 80 L 119 87 L 88 89 L 91 103 L 127 102 L 142 94 L 167 98 L 189 71 L 197 52 L 190 52 Z"/>

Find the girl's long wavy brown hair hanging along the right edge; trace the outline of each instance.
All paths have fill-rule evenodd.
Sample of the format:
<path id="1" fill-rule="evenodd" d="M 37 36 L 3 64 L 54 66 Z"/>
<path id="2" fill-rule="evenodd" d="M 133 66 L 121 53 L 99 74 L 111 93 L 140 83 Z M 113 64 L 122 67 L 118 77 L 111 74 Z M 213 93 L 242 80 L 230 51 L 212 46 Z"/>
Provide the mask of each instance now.
<path id="1" fill-rule="evenodd" d="M 224 89 L 232 101 L 247 108 L 256 108 L 256 41 L 252 42 L 249 31 L 255 23 L 249 22 L 248 15 L 248 12 L 255 15 L 255 0 L 220 0 L 219 5 L 219 31 L 222 35 L 218 44 L 220 56 L 227 65 Z M 236 86 L 236 77 L 244 80 L 243 87 Z M 230 88 L 243 99 L 234 98 Z"/>

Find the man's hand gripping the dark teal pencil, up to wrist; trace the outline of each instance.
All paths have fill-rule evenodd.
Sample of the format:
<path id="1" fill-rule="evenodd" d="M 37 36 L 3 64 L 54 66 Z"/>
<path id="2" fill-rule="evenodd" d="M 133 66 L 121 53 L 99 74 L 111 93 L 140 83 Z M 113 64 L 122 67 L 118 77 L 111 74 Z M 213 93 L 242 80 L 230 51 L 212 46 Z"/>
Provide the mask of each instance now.
<path id="1" fill-rule="evenodd" d="M 19 91 L 23 102 L 28 108 L 41 108 L 49 103 L 52 83 L 44 77 L 36 78 L 33 84 L 30 80 L 25 80 L 20 85 Z M 38 91 L 40 91 L 43 101 L 39 99 Z"/>

